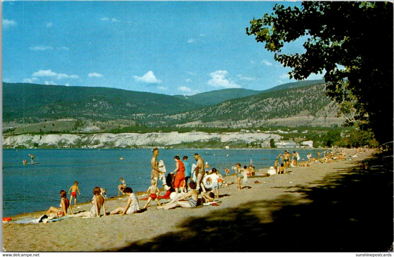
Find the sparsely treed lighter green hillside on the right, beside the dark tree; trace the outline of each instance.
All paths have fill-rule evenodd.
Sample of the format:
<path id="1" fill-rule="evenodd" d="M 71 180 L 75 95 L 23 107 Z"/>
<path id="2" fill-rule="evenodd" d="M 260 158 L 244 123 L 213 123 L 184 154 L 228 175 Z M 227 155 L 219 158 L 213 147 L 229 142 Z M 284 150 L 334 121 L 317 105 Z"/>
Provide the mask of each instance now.
<path id="1" fill-rule="evenodd" d="M 338 108 L 325 95 L 325 84 L 265 92 L 258 95 L 232 99 L 199 110 L 167 116 L 167 124 L 221 123 L 249 120 L 261 122 L 269 119 L 294 116 L 335 117 Z"/>

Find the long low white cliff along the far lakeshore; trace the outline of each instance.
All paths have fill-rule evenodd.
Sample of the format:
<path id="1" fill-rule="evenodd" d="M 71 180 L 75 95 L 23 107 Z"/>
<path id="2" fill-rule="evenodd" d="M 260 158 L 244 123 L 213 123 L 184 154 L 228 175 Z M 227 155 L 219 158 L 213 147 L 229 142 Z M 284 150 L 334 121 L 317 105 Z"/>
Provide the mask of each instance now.
<path id="1" fill-rule="evenodd" d="M 206 132 L 169 132 L 169 133 L 123 133 L 123 134 L 47 134 L 3 136 L 3 147 L 52 147 L 52 148 L 125 148 L 144 146 L 171 146 L 182 143 L 204 142 L 214 140 L 220 143 L 262 142 L 281 136 L 264 133 L 206 133 Z"/>

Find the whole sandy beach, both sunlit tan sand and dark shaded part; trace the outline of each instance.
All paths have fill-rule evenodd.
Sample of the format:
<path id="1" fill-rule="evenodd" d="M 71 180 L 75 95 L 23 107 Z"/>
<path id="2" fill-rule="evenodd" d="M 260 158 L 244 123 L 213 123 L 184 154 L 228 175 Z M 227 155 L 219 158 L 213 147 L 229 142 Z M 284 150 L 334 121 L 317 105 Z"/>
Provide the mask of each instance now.
<path id="1" fill-rule="evenodd" d="M 5 251 L 385 251 L 393 242 L 389 193 L 392 173 L 378 172 L 378 168 L 361 171 L 360 161 L 369 160 L 372 153 L 367 150 L 354 160 L 293 167 L 289 174 L 249 178 L 240 191 L 235 184 L 221 187 L 219 206 L 165 210 L 156 209 L 153 202 L 146 211 L 125 216 L 66 218 L 29 225 L 3 223 L 3 248 Z M 225 180 L 234 181 L 235 177 Z M 107 212 L 125 206 L 126 200 L 126 196 L 106 200 Z M 144 200 L 139 201 L 140 207 L 144 204 Z M 377 215 L 374 208 L 382 205 L 387 208 L 380 209 Z M 74 212 L 91 208 L 90 203 L 78 206 Z M 43 212 L 18 215 L 13 220 L 40 214 Z M 382 228 L 388 228 L 388 232 Z M 376 231 L 380 231 L 378 235 Z"/>

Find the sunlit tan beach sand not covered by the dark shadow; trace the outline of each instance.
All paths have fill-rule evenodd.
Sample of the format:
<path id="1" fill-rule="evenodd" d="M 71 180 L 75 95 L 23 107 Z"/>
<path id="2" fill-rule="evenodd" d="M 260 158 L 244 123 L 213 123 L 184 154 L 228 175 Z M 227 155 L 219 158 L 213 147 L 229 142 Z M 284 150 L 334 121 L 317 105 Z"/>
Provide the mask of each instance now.
<path id="1" fill-rule="evenodd" d="M 156 209 L 156 203 L 152 201 L 146 211 L 132 215 L 66 218 L 46 224 L 3 223 L 3 248 L 6 251 L 281 251 L 275 248 L 276 244 L 272 244 L 270 248 L 268 241 L 262 242 L 261 246 L 256 244 L 258 238 L 266 239 L 267 231 L 277 235 L 275 228 L 267 229 L 265 226 L 275 224 L 282 217 L 281 212 L 290 206 L 311 206 L 316 199 L 310 197 L 309 191 L 317 187 L 335 187 L 336 177 L 347 175 L 352 168 L 360 166 L 359 161 L 369 158 L 371 154 L 372 150 L 367 150 L 359 153 L 359 157 L 353 161 L 314 163 L 310 167 L 292 167 L 292 173 L 289 174 L 249 178 L 248 183 L 242 185 L 242 190 L 238 190 L 235 184 L 221 187 L 219 193 L 224 196 L 219 198 L 220 206 L 165 210 Z M 330 176 L 333 179 L 327 179 Z M 234 180 L 234 176 L 225 178 L 225 181 Z M 142 197 L 144 196 L 139 196 Z M 125 206 L 126 200 L 126 196 L 106 200 L 106 211 Z M 164 203 L 169 200 L 160 201 Z M 144 205 L 145 201 L 140 200 L 139 206 Z M 77 206 L 80 208 L 74 207 L 74 213 L 88 211 L 91 203 Z M 43 213 L 18 215 L 13 220 L 40 214 Z M 299 217 L 297 213 L 292 213 L 293 216 Z M 310 231 L 310 237 L 314 237 L 314 230 L 318 228 L 314 224 L 309 225 L 305 227 L 304 224 L 303 227 Z M 232 226 L 236 226 L 236 231 L 232 230 Z M 282 229 L 282 224 L 279 228 Z M 291 235 L 284 233 L 282 238 L 272 238 L 272 242 L 285 240 L 287 236 L 294 238 L 297 233 L 299 231 L 293 231 Z M 233 240 L 238 240 L 234 239 L 238 234 L 243 235 L 244 238 L 240 238 L 242 241 L 250 235 L 248 240 L 253 242 L 253 247 L 248 246 L 248 241 L 242 242 L 245 244 L 243 248 L 240 248 L 242 244 L 232 244 Z M 231 238 L 227 238 L 229 236 Z M 205 239 L 214 240 L 216 244 L 199 244 L 199 240 Z M 177 244 L 174 245 L 173 242 Z M 286 247 L 289 244 L 284 245 L 282 251 L 303 250 Z M 314 247 L 308 249 L 315 250 Z M 336 248 L 328 245 L 327 249 Z M 321 248 L 321 251 L 325 251 L 325 248 Z"/>

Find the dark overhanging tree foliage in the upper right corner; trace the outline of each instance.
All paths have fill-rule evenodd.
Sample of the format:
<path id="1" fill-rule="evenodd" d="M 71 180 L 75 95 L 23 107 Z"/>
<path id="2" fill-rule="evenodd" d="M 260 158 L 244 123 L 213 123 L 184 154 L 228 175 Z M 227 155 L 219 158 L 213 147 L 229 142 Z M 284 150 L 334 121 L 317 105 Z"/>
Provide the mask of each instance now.
<path id="1" fill-rule="evenodd" d="M 346 125 L 372 129 L 380 143 L 392 141 L 393 4 L 306 1 L 301 8 L 276 4 L 273 10 L 253 19 L 246 33 L 292 68 L 290 78 L 325 70 L 327 95 L 342 114 L 354 114 Z M 285 43 L 299 38 L 304 53 L 282 53 Z"/>

